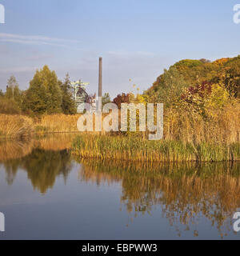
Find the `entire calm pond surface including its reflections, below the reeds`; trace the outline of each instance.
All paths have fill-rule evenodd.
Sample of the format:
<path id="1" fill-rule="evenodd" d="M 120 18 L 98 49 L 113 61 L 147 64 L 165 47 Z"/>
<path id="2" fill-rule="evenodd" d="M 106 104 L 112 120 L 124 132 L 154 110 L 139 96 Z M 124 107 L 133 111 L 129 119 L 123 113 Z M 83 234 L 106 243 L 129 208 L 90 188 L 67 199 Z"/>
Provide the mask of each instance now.
<path id="1" fill-rule="evenodd" d="M 0 239 L 240 239 L 240 164 L 81 161 L 70 138 L 0 144 Z"/>

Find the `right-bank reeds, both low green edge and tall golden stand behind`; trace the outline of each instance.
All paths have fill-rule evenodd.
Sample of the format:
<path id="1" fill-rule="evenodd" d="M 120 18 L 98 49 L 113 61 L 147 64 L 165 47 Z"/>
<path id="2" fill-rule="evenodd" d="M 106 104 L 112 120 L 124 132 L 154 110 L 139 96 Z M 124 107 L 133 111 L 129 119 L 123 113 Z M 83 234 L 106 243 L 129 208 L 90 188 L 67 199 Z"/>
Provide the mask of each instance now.
<path id="1" fill-rule="evenodd" d="M 240 160 L 240 104 L 212 110 L 208 118 L 190 109 L 169 108 L 164 138 L 149 141 L 146 134 L 81 135 L 73 153 L 82 158 L 139 162 L 219 162 Z"/>

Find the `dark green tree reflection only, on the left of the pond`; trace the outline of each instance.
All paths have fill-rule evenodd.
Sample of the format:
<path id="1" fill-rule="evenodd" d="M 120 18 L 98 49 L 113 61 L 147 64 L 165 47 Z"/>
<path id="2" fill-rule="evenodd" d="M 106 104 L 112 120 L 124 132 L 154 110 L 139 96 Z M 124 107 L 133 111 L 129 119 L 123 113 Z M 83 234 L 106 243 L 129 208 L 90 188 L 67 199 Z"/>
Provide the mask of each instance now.
<path id="1" fill-rule="evenodd" d="M 43 194 L 54 186 L 59 175 L 66 180 L 72 167 L 70 153 L 67 150 L 53 151 L 38 148 L 22 159 L 4 162 L 4 166 L 9 184 L 14 182 L 14 177 L 21 168 L 26 170 L 34 189 L 38 189 Z"/>

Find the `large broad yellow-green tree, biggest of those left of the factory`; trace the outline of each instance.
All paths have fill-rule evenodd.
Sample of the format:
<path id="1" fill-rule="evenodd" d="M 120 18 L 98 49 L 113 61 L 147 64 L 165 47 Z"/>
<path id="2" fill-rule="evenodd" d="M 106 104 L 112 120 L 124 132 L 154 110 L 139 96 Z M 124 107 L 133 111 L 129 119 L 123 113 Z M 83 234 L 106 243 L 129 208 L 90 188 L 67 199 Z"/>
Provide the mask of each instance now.
<path id="1" fill-rule="evenodd" d="M 54 114 L 62 112 L 62 91 L 57 75 L 48 66 L 37 70 L 26 91 L 23 110 L 36 114 Z"/>

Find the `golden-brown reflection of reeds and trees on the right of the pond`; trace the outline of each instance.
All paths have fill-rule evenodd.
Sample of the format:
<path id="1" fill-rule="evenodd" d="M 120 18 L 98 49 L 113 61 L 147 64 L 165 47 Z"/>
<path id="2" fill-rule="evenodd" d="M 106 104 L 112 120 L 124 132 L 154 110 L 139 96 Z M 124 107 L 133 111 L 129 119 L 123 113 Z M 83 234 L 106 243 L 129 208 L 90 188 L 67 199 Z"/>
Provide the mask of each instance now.
<path id="1" fill-rule="evenodd" d="M 230 220 L 240 206 L 240 165 L 206 163 L 202 165 L 84 162 L 80 176 L 86 181 L 122 181 L 122 204 L 130 214 L 151 213 L 162 206 L 170 224 L 196 225 L 202 215 L 217 226 L 220 234 L 229 232 Z M 198 235 L 198 230 L 194 230 Z"/>

